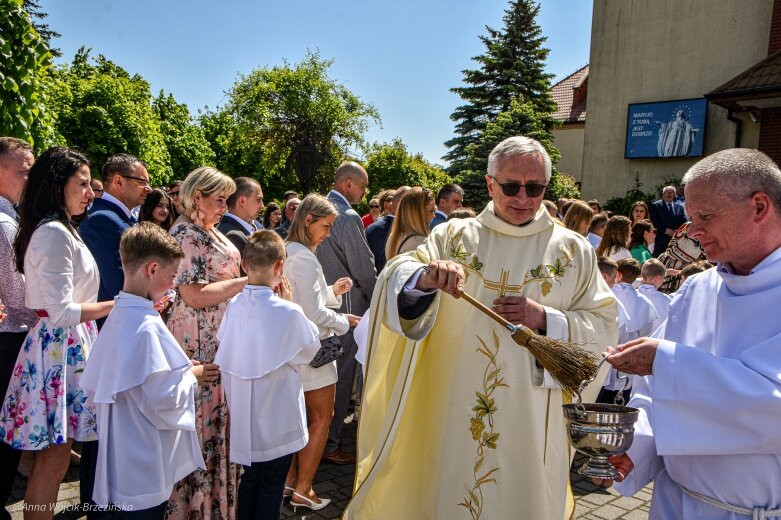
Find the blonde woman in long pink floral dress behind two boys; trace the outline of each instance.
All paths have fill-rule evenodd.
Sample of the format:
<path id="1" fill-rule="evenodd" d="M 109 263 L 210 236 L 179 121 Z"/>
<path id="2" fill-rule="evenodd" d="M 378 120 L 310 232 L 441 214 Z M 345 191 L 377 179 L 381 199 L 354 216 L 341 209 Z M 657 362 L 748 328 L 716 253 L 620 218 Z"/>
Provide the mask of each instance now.
<path id="1" fill-rule="evenodd" d="M 171 228 L 185 257 L 174 282 L 177 298 L 168 328 L 201 369 L 195 425 L 206 471 L 195 471 L 177 484 L 168 501 L 169 518 L 236 517 L 239 466 L 228 460 L 228 408 L 218 369 L 212 364 L 228 300 L 247 283 L 240 278 L 239 251 L 216 227 L 227 210 L 226 199 L 235 190 L 233 179 L 214 168 L 193 171 L 180 190 L 185 213 Z"/>

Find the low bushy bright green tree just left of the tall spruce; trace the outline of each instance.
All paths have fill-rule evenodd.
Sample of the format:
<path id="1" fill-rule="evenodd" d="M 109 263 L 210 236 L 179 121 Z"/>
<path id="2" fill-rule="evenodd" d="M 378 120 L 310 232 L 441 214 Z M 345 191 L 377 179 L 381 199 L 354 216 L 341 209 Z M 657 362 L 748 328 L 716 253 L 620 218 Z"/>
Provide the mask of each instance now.
<path id="1" fill-rule="evenodd" d="M 366 158 L 369 174 L 369 192 L 376 194 L 385 188 L 424 186 L 432 191 L 452 182 L 438 166 L 426 161 L 421 154 L 412 155 L 401 139 L 391 143 L 375 143 Z"/>

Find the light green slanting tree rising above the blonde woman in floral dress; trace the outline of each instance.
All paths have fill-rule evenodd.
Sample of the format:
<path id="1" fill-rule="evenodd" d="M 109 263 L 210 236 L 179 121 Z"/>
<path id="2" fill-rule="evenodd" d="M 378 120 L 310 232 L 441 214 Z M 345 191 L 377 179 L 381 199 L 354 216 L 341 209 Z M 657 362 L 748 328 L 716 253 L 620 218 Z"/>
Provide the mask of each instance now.
<path id="1" fill-rule="evenodd" d="M 172 94 L 166 96 L 161 90 L 152 101 L 152 109 L 160 120 L 174 178 L 184 178 L 200 166 L 215 164 L 204 130 L 194 124 L 187 105 L 177 103 Z"/>

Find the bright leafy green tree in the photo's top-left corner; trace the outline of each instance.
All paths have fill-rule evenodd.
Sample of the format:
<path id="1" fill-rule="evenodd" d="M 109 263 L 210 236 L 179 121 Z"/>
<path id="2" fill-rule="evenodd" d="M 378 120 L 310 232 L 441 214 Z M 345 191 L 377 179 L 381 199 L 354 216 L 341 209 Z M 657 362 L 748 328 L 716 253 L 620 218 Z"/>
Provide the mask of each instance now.
<path id="1" fill-rule="evenodd" d="M 0 1 L 0 135 L 36 150 L 57 140 L 47 108 L 52 56 L 22 0 Z"/>

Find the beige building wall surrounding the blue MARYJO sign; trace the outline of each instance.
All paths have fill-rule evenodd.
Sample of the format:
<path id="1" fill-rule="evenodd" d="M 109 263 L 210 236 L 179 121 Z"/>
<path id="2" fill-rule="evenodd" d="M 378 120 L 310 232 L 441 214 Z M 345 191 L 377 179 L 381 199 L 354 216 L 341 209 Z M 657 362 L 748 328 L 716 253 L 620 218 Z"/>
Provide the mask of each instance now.
<path id="1" fill-rule="evenodd" d="M 767 56 L 773 0 L 594 0 L 583 197 L 645 191 L 697 159 L 624 159 L 627 105 L 702 97 Z M 706 154 L 735 144 L 727 111 L 708 106 Z M 756 147 L 744 120 L 741 146 Z"/>

